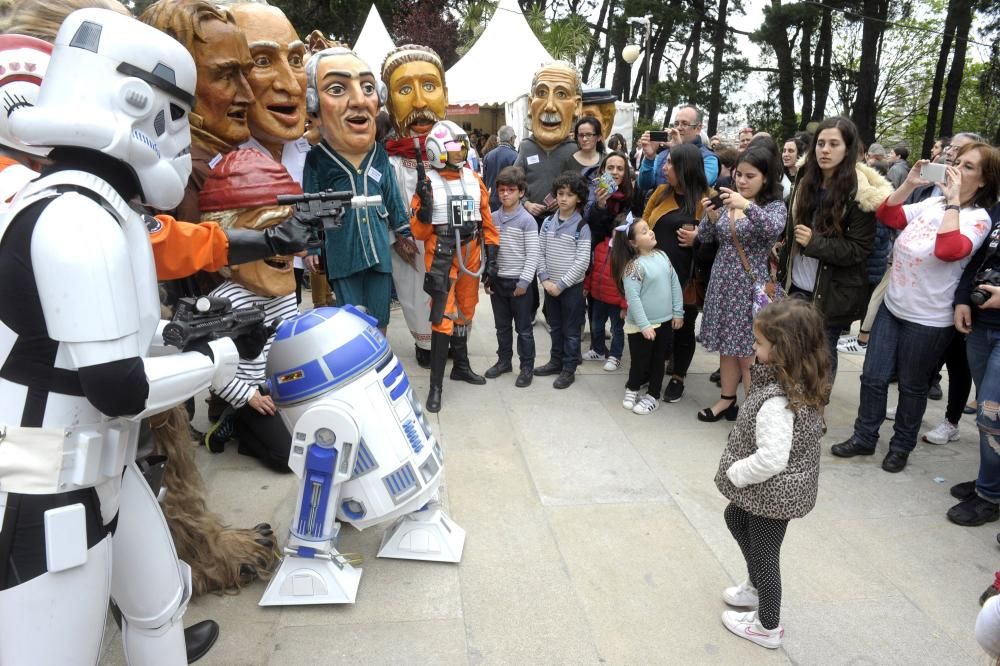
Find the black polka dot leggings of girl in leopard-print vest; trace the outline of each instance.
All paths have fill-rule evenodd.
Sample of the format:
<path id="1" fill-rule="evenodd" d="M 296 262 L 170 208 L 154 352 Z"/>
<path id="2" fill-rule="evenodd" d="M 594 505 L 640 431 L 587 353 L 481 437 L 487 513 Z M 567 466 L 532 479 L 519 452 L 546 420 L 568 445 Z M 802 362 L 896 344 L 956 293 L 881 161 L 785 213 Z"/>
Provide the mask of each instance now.
<path id="1" fill-rule="evenodd" d="M 757 588 L 757 619 L 765 629 L 774 629 L 781 619 L 781 542 L 788 521 L 755 516 L 732 502 L 723 515 L 743 551 L 750 584 Z"/>

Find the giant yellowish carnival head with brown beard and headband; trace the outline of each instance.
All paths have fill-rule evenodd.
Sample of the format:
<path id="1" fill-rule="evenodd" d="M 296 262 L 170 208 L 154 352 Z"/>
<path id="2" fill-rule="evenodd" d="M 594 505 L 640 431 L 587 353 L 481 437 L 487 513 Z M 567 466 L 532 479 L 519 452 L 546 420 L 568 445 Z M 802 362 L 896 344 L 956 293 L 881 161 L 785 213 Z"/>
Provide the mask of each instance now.
<path id="1" fill-rule="evenodd" d="M 390 51 L 382 63 L 382 82 L 389 93 L 385 106 L 400 138 L 427 134 L 444 120 L 448 86 L 434 49 L 406 44 Z"/>

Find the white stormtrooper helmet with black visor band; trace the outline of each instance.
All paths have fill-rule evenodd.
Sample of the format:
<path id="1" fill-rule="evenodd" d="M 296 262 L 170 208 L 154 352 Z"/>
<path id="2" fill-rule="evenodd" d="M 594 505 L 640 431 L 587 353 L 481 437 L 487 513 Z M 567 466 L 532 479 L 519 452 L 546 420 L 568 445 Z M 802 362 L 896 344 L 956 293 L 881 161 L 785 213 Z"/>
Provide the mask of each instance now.
<path id="1" fill-rule="evenodd" d="M 34 107 L 10 119 L 35 146 L 99 150 L 135 173 L 144 203 L 168 210 L 191 175 L 196 69 L 166 33 L 107 9 L 80 9 L 59 28 Z"/>

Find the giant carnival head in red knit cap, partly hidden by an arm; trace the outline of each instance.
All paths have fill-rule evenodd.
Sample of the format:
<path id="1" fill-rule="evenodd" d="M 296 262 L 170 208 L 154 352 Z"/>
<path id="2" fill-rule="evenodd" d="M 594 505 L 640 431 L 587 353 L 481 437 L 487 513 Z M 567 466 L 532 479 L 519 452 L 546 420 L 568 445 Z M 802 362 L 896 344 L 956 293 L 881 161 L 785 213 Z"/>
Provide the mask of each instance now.
<path id="1" fill-rule="evenodd" d="M 295 212 L 279 206 L 278 195 L 302 194 L 285 167 L 256 150 L 226 153 L 198 193 L 203 222 L 223 229 L 265 229 L 281 224 Z M 260 296 L 287 296 L 295 291 L 292 257 L 276 256 L 230 266 L 227 277 Z"/>

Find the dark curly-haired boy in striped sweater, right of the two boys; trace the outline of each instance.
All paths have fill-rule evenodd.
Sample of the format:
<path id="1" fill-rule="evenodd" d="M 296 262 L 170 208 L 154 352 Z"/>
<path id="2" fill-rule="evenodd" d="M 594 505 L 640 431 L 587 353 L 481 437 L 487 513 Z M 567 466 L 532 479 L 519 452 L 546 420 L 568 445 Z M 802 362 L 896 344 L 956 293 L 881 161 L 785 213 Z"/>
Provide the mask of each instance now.
<path id="1" fill-rule="evenodd" d="M 538 258 L 552 352 L 548 363 L 535 368 L 535 375 L 558 374 L 552 386 L 564 389 L 575 379 L 586 313 L 583 279 L 590 266 L 590 228 L 582 211 L 589 190 L 580 174 L 566 171 L 552 182 L 552 194 L 558 209 L 542 223 Z"/>

